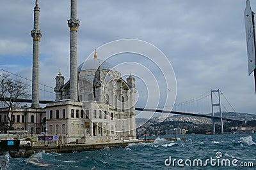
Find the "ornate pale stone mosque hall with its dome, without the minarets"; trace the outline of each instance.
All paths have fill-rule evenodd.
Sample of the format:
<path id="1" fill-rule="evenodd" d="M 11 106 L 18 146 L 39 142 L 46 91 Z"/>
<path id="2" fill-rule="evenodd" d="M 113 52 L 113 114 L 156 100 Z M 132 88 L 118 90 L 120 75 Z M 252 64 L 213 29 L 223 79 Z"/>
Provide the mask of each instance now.
<path id="1" fill-rule="evenodd" d="M 49 134 L 67 134 L 68 141 L 85 142 L 136 139 L 135 79 L 127 82 L 121 73 L 97 58 L 77 68 L 79 101 L 69 99 L 69 82 L 56 76 L 56 102 L 46 106 Z"/>

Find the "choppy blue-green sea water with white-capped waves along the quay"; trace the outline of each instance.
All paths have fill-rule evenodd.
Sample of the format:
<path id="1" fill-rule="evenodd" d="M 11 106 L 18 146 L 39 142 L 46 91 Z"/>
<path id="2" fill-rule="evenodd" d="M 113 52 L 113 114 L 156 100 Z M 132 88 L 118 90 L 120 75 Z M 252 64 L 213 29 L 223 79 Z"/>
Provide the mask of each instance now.
<path id="1" fill-rule="evenodd" d="M 5 169 L 256 169 L 256 135 L 188 135 L 186 141 L 131 143 L 74 153 L 35 153 L 7 160 Z"/>

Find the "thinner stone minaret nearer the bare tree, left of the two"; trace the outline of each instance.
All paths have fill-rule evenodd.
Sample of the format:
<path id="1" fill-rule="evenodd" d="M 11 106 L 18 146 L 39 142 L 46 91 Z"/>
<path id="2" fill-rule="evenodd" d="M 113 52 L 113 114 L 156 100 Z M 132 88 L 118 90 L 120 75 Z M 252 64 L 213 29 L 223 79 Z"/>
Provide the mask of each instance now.
<path id="1" fill-rule="evenodd" d="M 34 8 L 34 28 L 31 31 L 33 38 L 33 68 L 32 68 L 32 105 L 31 108 L 39 108 L 39 64 L 40 64 L 40 8 L 38 0 Z"/>

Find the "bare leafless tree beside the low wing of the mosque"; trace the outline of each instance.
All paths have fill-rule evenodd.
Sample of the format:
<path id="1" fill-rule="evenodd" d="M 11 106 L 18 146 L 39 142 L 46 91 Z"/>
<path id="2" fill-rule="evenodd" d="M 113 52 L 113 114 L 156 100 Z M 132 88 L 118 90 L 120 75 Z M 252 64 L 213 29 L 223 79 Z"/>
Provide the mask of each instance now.
<path id="1" fill-rule="evenodd" d="M 9 127 L 14 123 L 13 107 L 17 106 L 17 99 L 28 98 L 28 86 L 20 80 L 12 80 L 8 74 L 2 74 L 0 78 L 0 98 L 3 106 L 8 107 L 8 122 Z M 11 113 L 11 115 L 9 115 Z"/>

